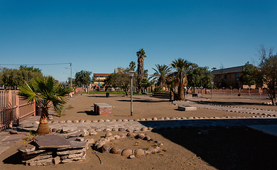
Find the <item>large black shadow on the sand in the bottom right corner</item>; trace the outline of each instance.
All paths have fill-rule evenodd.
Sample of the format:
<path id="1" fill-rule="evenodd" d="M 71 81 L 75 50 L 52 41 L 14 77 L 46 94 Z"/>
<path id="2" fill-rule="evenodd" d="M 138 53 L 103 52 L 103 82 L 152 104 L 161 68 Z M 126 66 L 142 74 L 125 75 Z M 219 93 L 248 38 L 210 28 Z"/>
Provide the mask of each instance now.
<path id="1" fill-rule="evenodd" d="M 205 126 L 202 120 L 195 121 L 200 123 L 195 128 L 190 124 L 188 128 L 168 127 L 154 132 L 185 147 L 217 169 L 277 169 L 277 137 L 245 126 L 222 128 L 209 123 Z"/>

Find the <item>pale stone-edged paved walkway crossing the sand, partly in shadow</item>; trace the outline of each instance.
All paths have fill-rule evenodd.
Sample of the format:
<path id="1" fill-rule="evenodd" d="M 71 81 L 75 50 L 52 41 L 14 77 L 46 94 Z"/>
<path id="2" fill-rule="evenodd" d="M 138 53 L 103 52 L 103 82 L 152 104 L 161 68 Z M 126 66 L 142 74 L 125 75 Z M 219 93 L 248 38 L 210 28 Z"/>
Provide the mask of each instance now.
<path id="1" fill-rule="evenodd" d="M 176 101 L 176 105 L 188 104 L 188 102 Z M 50 121 L 49 127 L 57 130 L 87 130 L 94 129 L 97 131 L 104 129 L 114 130 L 130 130 L 139 131 L 143 127 L 150 128 L 214 128 L 214 127 L 232 127 L 232 126 L 247 126 L 262 132 L 267 132 L 270 135 L 277 136 L 277 111 L 267 111 L 262 109 L 251 109 L 251 108 L 239 108 L 233 106 L 214 106 L 206 105 L 202 103 L 190 103 L 198 108 L 214 109 L 219 111 L 230 111 L 230 112 L 241 112 L 241 113 L 255 113 L 260 116 L 252 116 L 252 118 L 153 118 L 153 119 L 141 119 L 139 121 L 134 120 L 99 120 L 98 122 L 92 122 L 91 120 L 80 120 L 77 123 L 71 121 Z M 6 149 L 9 149 L 14 142 L 20 140 L 28 134 L 29 130 L 36 130 L 38 128 L 39 116 L 31 116 L 21 122 L 21 125 L 17 127 L 18 135 L 10 135 L 11 130 L 4 130 L 0 132 L 0 154 Z"/>

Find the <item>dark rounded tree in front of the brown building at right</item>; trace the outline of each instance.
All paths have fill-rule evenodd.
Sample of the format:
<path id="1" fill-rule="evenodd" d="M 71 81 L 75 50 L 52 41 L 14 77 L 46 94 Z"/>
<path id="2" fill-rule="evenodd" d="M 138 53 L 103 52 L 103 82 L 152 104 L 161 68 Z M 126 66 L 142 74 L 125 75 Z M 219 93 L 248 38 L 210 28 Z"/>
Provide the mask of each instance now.
<path id="1" fill-rule="evenodd" d="M 257 67 L 246 62 L 242 68 L 242 75 L 239 77 L 239 81 L 241 81 L 242 84 L 246 84 L 250 90 L 252 85 L 256 85 L 258 72 Z"/>

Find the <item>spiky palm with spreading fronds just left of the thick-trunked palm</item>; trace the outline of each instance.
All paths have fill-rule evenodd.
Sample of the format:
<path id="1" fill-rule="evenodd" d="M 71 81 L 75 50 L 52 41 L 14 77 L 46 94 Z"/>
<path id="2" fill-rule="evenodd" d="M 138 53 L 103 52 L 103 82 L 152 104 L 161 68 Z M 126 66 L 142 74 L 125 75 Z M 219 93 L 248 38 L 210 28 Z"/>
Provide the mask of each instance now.
<path id="1" fill-rule="evenodd" d="M 171 71 L 170 67 L 165 64 L 155 64 L 155 66 L 156 69 L 152 68 L 155 72 L 154 74 L 151 74 L 149 78 L 153 78 L 153 81 L 158 80 L 158 86 L 163 89 L 163 87 L 165 86 L 166 77 Z"/>

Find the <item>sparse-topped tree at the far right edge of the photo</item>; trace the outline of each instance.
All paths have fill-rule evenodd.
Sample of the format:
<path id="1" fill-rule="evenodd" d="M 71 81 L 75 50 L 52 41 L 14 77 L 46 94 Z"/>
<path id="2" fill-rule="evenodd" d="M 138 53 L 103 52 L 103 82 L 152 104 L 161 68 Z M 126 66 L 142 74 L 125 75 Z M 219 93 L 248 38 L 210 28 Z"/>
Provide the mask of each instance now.
<path id="1" fill-rule="evenodd" d="M 259 55 L 261 57 L 261 77 L 264 84 L 267 85 L 266 91 L 273 105 L 276 105 L 276 86 L 277 86 L 277 54 L 273 55 L 273 48 L 266 50 L 261 45 Z M 267 54 L 268 53 L 268 54 Z"/>

